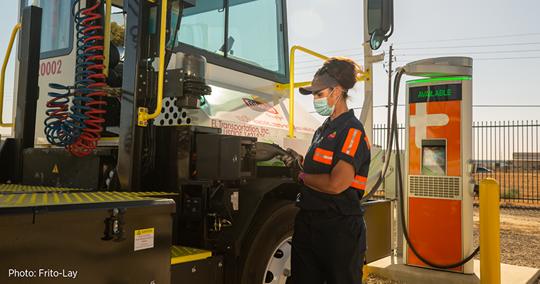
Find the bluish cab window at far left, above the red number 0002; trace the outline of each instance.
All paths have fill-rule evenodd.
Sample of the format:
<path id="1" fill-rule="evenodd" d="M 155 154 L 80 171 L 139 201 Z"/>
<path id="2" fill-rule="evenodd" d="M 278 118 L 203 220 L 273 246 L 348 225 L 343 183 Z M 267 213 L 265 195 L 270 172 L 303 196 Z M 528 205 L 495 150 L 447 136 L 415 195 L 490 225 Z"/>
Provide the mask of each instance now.
<path id="1" fill-rule="evenodd" d="M 22 0 L 23 8 L 35 5 L 43 9 L 41 25 L 41 56 L 50 58 L 64 56 L 73 48 L 72 0 Z"/>

